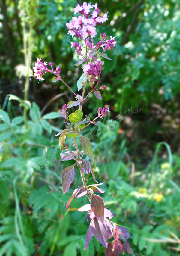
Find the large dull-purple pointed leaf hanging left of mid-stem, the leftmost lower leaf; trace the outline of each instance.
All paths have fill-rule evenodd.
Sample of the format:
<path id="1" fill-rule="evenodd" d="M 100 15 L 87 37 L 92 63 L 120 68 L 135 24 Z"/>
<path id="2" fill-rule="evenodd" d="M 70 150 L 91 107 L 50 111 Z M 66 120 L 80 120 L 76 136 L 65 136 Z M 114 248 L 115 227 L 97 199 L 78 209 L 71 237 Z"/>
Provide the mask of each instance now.
<path id="1" fill-rule="evenodd" d="M 70 187 L 70 184 L 73 182 L 74 179 L 74 165 L 66 167 L 62 172 L 62 188 L 63 188 L 63 195 L 67 192 Z"/>

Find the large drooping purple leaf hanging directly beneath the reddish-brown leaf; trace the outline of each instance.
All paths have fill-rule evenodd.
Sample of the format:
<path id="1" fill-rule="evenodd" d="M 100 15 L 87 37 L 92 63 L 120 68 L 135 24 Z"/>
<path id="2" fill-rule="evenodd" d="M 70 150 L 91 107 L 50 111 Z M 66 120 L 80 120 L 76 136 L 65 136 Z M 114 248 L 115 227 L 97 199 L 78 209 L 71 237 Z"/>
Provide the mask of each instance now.
<path id="1" fill-rule="evenodd" d="M 107 231 L 105 224 L 101 223 L 97 218 L 94 218 L 91 220 L 90 230 L 98 241 L 107 247 Z"/>

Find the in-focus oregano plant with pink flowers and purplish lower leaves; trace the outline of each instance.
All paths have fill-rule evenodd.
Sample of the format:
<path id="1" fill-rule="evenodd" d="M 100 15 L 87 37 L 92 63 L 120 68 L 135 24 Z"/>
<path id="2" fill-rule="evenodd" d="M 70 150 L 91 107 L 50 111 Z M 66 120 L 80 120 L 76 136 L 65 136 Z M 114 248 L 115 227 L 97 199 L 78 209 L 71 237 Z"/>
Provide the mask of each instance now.
<path id="1" fill-rule="evenodd" d="M 84 2 L 82 5 L 77 4 L 74 8 L 74 14 L 79 14 L 78 17 L 73 17 L 69 23 L 66 23 L 68 33 L 79 39 L 79 42 L 70 42 L 71 48 L 74 47 L 75 51 L 79 55 L 76 66 L 82 65 L 82 76 L 77 81 L 77 90 L 82 89 L 82 94 L 74 92 L 60 76 L 61 67 L 54 68 L 52 61 L 49 63 L 50 68 L 47 67 L 47 62 L 41 62 L 41 59 L 37 58 L 35 62 L 34 76 L 41 81 L 44 80 L 43 75 L 46 72 L 50 72 L 57 76 L 53 82 L 61 80 L 74 94 L 74 101 L 70 101 L 67 105 L 62 106 L 61 117 L 64 118 L 66 128 L 58 133 L 59 146 L 65 153 L 61 153 L 60 161 L 74 160 L 74 164 L 66 167 L 62 171 L 62 188 L 63 194 L 65 194 L 74 179 L 74 168 L 78 168 L 82 185 L 78 186 L 70 197 L 66 205 L 66 210 L 70 207 L 70 203 L 73 198 L 79 198 L 82 196 L 87 197 L 87 204 L 83 205 L 78 211 L 87 211 L 87 221 L 90 225 L 87 230 L 86 241 L 84 250 L 88 248 L 88 244 L 94 235 L 99 242 L 106 247 L 106 256 L 118 256 L 120 253 L 125 254 L 132 253 L 130 244 L 127 242 L 130 234 L 128 230 L 122 226 L 118 226 L 111 219 L 114 214 L 104 207 L 104 200 L 96 193 L 104 193 L 99 188 L 100 184 L 86 185 L 85 175 L 91 172 L 95 182 L 95 173 L 91 167 L 91 162 L 94 161 L 93 148 L 90 140 L 82 136 L 81 132 L 89 125 L 97 125 L 98 119 L 105 117 L 110 111 L 109 108 L 98 108 L 97 117 L 93 120 L 86 115 L 83 119 L 83 104 L 88 100 L 91 93 L 94 93 L 98 100 L 102 100 L 100 90 L 106 89 L 106 85 L 99 86 L 101 69 L 103 62 L 101 58 L 106 58 L 112 61 L 104 53 L 109 49 L 113 49 L 117 42 L 115 37 L 108 36 L 106 33 L 100 34 L 98 41 L 95 43 L 95 37 L 97 35 L 96 26 L 102 25 L 108 20 L 108 14 L 100 15 L 100 9 L 98 4 L 91 5 Z M 90 92 L 86 93 L 86 88 L 90 87 Z M 89 88 L 88 88 L 89 91 Z M 79 108 L 70 113 L 70 108 L 79 106 Z M 68 146 L 66 138 L 71 137 L 74 140 L 73 147 Z M 77 137 L 80 137 L 81 147 L 77 143 Z M 73 148 L 73 149 L 72 149 Z M 84 159 L 84 156 L 88 156 L 89 161 Z M 88 203 L 89 200 L 89 203 Z M 111 239 L 108 243 L 108 239 Z M 133 254 L 133 253 L 132 253 Z"/>

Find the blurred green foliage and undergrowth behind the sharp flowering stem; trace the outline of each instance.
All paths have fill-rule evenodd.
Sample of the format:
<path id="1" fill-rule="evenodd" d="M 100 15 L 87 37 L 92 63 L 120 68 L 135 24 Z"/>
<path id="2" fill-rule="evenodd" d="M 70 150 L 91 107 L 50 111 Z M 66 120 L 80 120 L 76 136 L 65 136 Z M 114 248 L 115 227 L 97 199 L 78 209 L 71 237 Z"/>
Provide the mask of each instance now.
<path id="1" fill-rule="evenodd" d="M 0 3 L 0 255 L 104 255 L 95 239 L 89 249 L 82 250 L 85 214 L 65 214 L 70 193 L 62 196 L 61 172 L 67 163 L 59 163 L 54 137 L 64 123 L 55 118 L 58 114 L 46 116 L 58 113 L 73 95 L 61 82 L 52 83 L 49 74 L 40 83 L 31 76 L 28 125 L 23 124 L 24 42 L 30 42 L 31 69 L 36 57 L 53 61 L 61 66 L 63 80 L 77 91 L 82 70 L 74 66 L 77 55 L 70 48 L 72 38 L 65 26 L 77 2 L 82 3 Z M 111 106 L 110 115 L 98 128 L 110 121 L 113 128 L 109 125 L 92 139 L 93 168 L 98 181 L 104 182 L 103 199 L 114 211 L 116 223 L 132 234 L 134 254 L 176 256 L 180 250 L 180 1 L 93 0 L 91 4 L 95 2 L 101 11 L 109 12 L 98 34 L 116 36 L 119 43 L 108 52 L 114 61 L 104 60 L 101 85 L 106 84 L 107 90 L 103 101 L 89 97 L 84 108 L 84 115 L 92 117 L 99 106 Z M 65 95 L 43 110 L 60 93 Z M 9 94 L 19 99 L 8 100 Z M 51 155 L 55 161 L 47 160 Z M 39 162 L 43 163 L 37 172 L 29 169 Z M 88 179 L 93 183 L 91 176 Z M 78 173 L 71 193 L 77 183 Z M 78 208 L 83 203 L 85 199 L 78 198 L 72 205 Z"/>

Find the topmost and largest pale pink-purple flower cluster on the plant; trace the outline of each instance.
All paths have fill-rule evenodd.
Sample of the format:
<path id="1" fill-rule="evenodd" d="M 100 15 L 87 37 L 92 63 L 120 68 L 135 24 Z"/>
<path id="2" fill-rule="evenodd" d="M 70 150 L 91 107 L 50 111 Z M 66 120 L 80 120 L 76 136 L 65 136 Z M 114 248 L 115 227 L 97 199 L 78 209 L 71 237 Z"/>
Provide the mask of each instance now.
<path id="1" fill-rule="evenodd" d="M 95 10 L 91 13 L 91 9 Z M 69 29 L 68 33 L 73 37 L 76 35 L 79 38 L 91 38 L 97 35 L 96 25 L 101 25 L 108 20 L 107 13 L 103 17 L 99 17 L 99 8 L 98 4 L 91 5 L 91 3 L 84 2 L 82 5 L 77 4 L 74 8 L 74 14 L 80 13 L 83 16 L 79 15 L 78 17 L 73 17 L 73 19 L 66 23 L 67 28 Z M 91 14 L 91 15 L 90 15 Z"/>

